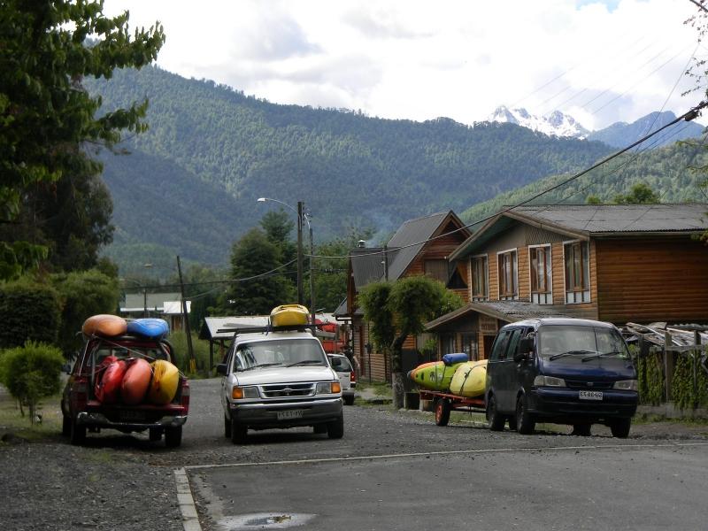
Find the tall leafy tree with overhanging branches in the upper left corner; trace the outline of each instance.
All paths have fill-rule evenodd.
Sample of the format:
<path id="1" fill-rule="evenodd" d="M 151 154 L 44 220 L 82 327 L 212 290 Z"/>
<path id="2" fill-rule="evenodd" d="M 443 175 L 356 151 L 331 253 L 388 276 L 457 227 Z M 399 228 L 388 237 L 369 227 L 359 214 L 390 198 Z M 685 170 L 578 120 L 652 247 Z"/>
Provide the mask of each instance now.
<path id="1" fill-rule="evenodd" d="M 120 131 L 142 132 L 147 102 L 96 117 L 100 97 L 84 76 L 112 76 L 157 58 L 162 27 L 127 31 L 127 12 L 103 14 L 103 2 L 5 0 L 0 9 L 0 223 L 16 224 L 25 201 L 69 176 L 95 176 L 101 165 L 87 145 L 112 146 Z M 96 41 L 87 42 L 87 38 Z M 0 241 L 0 278 L 48 255 L 40 238 L 11 231 Z M 75 244 L 75 243 L 74 243 Z"/>

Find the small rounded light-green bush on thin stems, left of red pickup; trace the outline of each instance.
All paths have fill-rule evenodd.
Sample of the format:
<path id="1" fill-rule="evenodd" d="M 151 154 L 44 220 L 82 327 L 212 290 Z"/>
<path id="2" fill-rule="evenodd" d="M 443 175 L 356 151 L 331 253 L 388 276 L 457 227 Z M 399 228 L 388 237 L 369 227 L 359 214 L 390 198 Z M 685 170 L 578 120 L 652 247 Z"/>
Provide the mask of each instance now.
<path id="1" fill-rule="evenodd" d="M 0 378 L 20 405 L 29 407 L 29 416 L 35 423 L 35 412 L 40 399 L 58 393 L 61 387 L 61 350 L 40 342 L 27 341 L 23 347 L 5 350 L 0 358 Z"/>

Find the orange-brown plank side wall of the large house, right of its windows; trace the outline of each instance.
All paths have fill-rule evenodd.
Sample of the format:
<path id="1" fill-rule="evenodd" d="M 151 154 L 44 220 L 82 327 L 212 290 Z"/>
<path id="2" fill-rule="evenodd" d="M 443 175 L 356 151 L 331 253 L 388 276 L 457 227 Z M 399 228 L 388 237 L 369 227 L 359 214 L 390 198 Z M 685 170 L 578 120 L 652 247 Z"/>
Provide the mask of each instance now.
<path id="1" fill-rule="evenodd" d="M 597 240 L 599 317 L 616 324 L 708 321 L 708 248 L 689 237 Z"/>

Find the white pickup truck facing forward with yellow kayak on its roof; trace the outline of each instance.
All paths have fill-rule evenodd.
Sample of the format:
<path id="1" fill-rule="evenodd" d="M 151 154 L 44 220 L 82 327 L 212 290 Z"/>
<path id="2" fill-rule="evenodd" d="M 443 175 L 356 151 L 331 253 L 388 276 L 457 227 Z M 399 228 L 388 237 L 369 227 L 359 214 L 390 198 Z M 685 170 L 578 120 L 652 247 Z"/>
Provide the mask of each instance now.
<path id="1" fill-rule="evenodd" d="M 223 363 L 224 435 L 246 443 L 249 429 L 312 426 L 344 435 L 342 388 L 311 327 L 235 329 Z"/>

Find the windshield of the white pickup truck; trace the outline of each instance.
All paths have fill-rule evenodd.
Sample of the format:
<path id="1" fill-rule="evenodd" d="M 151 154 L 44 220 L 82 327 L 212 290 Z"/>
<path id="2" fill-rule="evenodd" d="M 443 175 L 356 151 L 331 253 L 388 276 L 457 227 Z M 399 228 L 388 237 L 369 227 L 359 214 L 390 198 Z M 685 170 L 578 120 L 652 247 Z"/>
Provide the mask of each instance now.
<path id="1" fill-rule="evenodd" d="M 236 371 L 248 371 L 266 366 L 325 366 L 325 352 L 318 340 L 279 339 L 246 342 L 235 353 Z"/>

